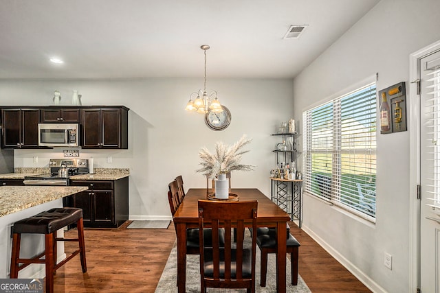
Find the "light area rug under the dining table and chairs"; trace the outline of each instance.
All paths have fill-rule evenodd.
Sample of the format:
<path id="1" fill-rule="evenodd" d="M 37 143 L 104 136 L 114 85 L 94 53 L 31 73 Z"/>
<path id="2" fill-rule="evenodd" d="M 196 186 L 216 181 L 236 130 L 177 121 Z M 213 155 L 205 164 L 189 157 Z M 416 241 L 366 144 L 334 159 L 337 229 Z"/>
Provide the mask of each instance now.
<path id="1" fill-rule="evenodd" d="M 249 236 L 249 235 L 248 235 Z M 156 293 L 162 292 L 177 292 L 177 248 L 174 244 L 171 250 L 168 261 L 162 272 L 162 276 L 159 279 Z M 274 253 L 270 253 L 267 257 L 267 277 L 266 277 L 266 287 L 260 286 L 260 263 L 261 263 L 261 253 L 260 250 L 256 250 L 256 282 L 255 291 L 256 292 L 276 292 L 276 266 Z M 292 285 L 290 279 L 290 260 L 287 257 L 286 266 L 286 292 L 296 292 L 296 293 L 309 293 L 309 287 L 307 287 L 301 276 L 298 276 L 298 285 Z M 213 289 L 208 288 L 207 292 L 246 292 L 244 289 L 237 290 L 225 290 L 225 289 Z M 200 268 L 199 268 L 199 255 L 187 255 L 186 256 L 186 292 L 200 292 Z"/>

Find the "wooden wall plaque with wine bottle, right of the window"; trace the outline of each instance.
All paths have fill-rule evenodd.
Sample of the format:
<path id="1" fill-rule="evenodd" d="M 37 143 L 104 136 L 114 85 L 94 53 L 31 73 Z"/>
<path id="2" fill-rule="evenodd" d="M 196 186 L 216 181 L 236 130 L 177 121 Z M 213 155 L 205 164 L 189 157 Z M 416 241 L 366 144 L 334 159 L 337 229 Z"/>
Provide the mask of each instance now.
<path id="1" fill-rule="evenodd" d="M 406 131 L 405 82 L 399 82 L 379 91 L 380 133 Z"/>

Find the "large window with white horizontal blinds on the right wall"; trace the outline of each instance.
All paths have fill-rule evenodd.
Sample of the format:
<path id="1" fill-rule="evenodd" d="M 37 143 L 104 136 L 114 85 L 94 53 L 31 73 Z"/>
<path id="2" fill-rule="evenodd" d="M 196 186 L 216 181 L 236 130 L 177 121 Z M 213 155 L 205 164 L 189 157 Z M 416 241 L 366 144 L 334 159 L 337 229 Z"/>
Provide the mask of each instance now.
<path id="1" fill-rule="evenodd" d="M 303 128 L 304 190 L 375 218 L 375 84 L 305 111 Z"/>

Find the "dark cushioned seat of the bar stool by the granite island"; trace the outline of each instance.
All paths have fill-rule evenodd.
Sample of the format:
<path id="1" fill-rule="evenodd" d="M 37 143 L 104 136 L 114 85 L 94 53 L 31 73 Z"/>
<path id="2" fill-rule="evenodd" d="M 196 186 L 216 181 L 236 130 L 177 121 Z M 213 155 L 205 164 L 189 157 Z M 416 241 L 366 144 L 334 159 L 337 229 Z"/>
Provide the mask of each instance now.
<path id="1" fill-rule="evenodd" d="M 14 223 L 12 233 L 50 234 L 83 218 L 83 209 L 55 208 Z"/>

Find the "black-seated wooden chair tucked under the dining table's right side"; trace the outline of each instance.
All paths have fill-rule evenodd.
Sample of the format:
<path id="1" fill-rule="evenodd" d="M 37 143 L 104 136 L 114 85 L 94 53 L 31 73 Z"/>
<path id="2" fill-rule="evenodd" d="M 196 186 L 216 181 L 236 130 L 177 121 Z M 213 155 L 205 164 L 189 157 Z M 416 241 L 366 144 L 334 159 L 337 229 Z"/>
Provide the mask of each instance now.
<path id="1" fill-rule="evenodd" d="M 266 273 L 267 273 L 267 254 L 276 253 L 276 229 L 262 227 L 258 228 L 256 233 L 256 244 L 261 250 L 261 287 L 266 286 Z M 300 243 L 296 238 L 290 234 L 290 228 L 287 226 L 287 253 L 290 253 L 290 271 L 292 285 L 298 285 L 298 256 Z"/>

